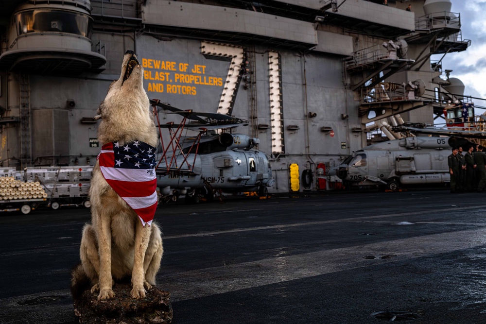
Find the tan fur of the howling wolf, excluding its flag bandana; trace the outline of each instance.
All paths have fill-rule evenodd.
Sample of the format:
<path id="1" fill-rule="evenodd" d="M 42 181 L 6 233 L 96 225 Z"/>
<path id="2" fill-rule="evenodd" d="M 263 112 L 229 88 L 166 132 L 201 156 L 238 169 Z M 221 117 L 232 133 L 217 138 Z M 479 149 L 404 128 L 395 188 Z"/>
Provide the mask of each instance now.
<path id="1" fill-rule="evenodd" d="M 113 81 L 98 109 L 101 118 L 98 140 L 103 145 L 143 141 L 158 143 L 150 103 L 142 84 L 143 68 L 132 51 L 127 51 L 121 75 Z M 137 214 L 108 185 L 98 162 L 93 169 L 91 224 L 86 224 L 81 239 L 81 265 L 72 272 L 71 291 L 79 296 L 81 282 L 89 279 L 91 292 L 99 290 L 98 300 L 113 298 L 115 280 L 131 276 L 133 298 L 143 298 L 146 289 L 156 284 L 163 247 L 155 222 L 145 226 Z"/>

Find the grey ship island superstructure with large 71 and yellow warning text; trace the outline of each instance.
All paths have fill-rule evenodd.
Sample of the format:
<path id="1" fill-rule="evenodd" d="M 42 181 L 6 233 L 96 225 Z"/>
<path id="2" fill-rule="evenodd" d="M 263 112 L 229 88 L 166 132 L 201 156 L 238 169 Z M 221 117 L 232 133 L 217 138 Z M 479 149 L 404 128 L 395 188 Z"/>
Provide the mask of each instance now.
<path id="1" fill-rule="evenodd" d="M 451 1 L 388 2 L 0 1 L 0 166 L 93 165 L 93 117 L 133 50 L 150 99 L 248 120 L 270 192 L 337 188 L 326 170 L 371 131 L 399 138 L 391 126 L 468 102 L 431 61 L 470 46 Z"/>

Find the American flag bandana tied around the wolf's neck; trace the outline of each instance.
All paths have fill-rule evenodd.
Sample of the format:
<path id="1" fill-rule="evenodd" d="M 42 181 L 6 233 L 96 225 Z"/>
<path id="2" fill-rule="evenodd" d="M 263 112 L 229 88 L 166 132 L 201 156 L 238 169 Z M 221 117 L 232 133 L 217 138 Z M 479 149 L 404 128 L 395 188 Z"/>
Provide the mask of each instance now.
<path id="1" fill-rule="evenodd" d="M 104 179 L 139 215 L 143 226 L 152 224 L 157 208 L 155 150 L 142 141 L 124 146 L 110 142 L 98 155 Z"/>

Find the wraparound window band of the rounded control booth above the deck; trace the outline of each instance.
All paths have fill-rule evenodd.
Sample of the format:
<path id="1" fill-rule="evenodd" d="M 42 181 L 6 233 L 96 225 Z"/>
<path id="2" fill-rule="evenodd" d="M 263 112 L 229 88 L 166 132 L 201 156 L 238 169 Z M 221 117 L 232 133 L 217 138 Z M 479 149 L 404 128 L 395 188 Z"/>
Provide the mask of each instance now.
<path id="1" fill-rule="evenodd" d="M 84 14 L 65 11 L 35 9 L 15 15 L 17 34 L 59 32 L 91 36 L 92 19 Z"/>

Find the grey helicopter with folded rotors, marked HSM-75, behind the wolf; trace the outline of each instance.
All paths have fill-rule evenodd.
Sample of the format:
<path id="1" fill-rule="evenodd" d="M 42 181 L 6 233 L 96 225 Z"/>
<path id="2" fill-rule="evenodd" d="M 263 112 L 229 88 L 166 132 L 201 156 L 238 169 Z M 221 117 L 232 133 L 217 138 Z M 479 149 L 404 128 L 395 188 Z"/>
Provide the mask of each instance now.
<path id="1" fill-rule="evenodd" d="M 169 143 L 164 145 L 160 132 L 161 143 L 156 153 L 157 187 L 164 202 L 177 201 L 181 195 L 185 195 L 187 203 L 197 204 L 217 195 L 221 199 L 223 193 L 268 194 L 267 187 L 274 181 L 272 167 L 266 154 L 255 149 L 259 139 L 227 132 L 248 125 L 247 120 L 181 110 L 158 100 L 150 102 L 159 130 L 166 128 L 170 133 Z M 160 124 L 160 110 L 179 115 L 182 121 Z M 197 135 L 183 136 L 187 130 L 196 131 Z M 216 130 L 226 132 L 218 134 Z"/>

